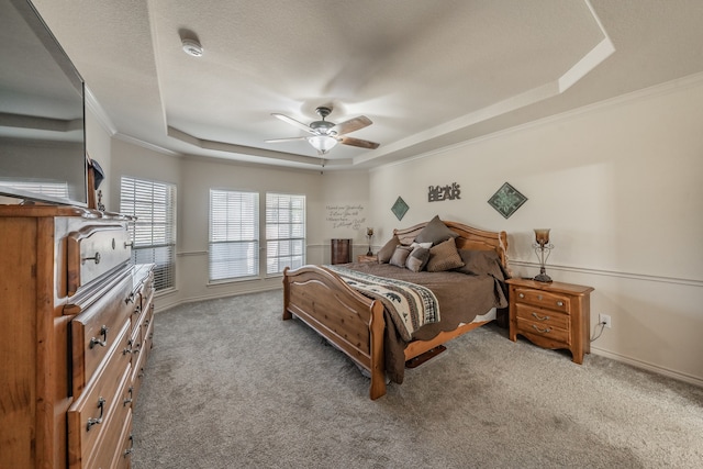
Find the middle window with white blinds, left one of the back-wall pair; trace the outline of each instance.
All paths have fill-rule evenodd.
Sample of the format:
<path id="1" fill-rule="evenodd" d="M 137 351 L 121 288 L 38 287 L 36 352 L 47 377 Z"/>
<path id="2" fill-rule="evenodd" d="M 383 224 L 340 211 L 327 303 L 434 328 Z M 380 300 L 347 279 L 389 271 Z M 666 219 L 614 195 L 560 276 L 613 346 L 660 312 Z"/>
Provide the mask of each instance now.
<path id="1" fill-rule="evenodd" d="M 258 276 L 259 194 L 210 190 L 210 281 Z"/>

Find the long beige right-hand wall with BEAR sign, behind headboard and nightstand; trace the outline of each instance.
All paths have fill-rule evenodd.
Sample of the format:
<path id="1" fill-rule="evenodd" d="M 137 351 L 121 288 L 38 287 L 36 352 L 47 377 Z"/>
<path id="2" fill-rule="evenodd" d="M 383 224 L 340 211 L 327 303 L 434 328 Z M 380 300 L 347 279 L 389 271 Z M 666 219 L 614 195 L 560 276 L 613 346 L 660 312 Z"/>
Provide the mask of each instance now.
<path id="1" fill-rule="evenodd" d="M 703 383 L 703 82 L 680 82 L 371 171 L 383 237 L 435 214 L 509 233 L 516 276 L 537 273 L 533 228 L 550 227 L 555 280 L 595 288 L 613 327 L 593 351 Z M 488 199 L 528 201 L 509 220 Z M 429 185 L 461 199 L 427 202 Z M 389 208 L 401 196 L 402 222 Z"/>

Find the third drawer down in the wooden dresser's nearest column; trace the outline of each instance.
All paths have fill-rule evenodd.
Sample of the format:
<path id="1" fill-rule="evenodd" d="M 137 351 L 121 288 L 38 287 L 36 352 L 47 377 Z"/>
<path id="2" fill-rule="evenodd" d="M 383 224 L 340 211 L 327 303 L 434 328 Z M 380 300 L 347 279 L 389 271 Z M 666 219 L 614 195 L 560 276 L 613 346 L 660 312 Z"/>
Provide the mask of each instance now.
<path id="1" fill-rule="evenodd" d="M 127 327 L 122 330 L 123 339 Z M 130 409 L 130 357 L 122 350 L 113 350 L 104 367 L 93 376 L 83 393 L 71 404 L 67 413 L 68 459 L 71 468 L 100 467 L 100 447 L 109 432 L 119 432 Z M 112 447 L 114 450 L 114 447 Z M 110 460 L 112 458 L 110 457 Z"/>

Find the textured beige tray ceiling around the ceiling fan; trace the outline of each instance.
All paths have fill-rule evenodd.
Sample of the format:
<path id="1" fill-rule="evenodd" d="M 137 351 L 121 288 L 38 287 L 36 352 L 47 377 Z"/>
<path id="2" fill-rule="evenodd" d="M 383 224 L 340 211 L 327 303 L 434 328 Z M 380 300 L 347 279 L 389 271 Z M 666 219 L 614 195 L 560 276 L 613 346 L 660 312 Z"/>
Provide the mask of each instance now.
<path id="1" fill-rule="evenodd" d="M 119 137 L 302 168 L 322 161 L 265 143 L 303 135 L 271 113 L 367 115 L 350 136 L 379 148 L 325 159 L 368 168 L 703 71 L 700 0 L 33 3 Z"/>

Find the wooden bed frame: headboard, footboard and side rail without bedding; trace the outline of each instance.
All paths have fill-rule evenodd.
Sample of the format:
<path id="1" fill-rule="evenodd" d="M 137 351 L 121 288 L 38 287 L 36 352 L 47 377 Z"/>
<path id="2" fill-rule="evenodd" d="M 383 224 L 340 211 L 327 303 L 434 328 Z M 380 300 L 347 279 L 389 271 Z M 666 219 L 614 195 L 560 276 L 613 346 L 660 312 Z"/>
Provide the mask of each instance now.
<path id="1" fill-rule="evenodd" d="M 410 245 L 427 222 L 410 228 L 394 230 L 404 245 Z M 459 249 L 495 250 L 507 269 L 507 235 L 487 232 L 457 222 L 444 221 L 459 236 Z M 372 400 L 386 394 L 383 356 L 383 304 L 349 288 L 335 272 L 322 266 L 303 266 L 283 271 L 283 320 L 298 316 L 310 327 L 369 371 Z M 489 321 L 460 325 L 431 340 L 413 340 L 405 348 L 405 361 L 415 358 Z"/>

